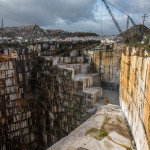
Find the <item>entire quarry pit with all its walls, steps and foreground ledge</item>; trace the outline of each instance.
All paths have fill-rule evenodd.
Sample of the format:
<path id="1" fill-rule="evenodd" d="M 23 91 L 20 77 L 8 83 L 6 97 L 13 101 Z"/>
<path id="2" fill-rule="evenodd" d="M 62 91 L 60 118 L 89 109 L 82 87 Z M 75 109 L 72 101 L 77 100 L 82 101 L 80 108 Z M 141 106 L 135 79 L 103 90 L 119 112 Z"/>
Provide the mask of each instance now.
<path id="1" fill-rule="evenodd" d="M 0 150 L 149 150 L 143 48 L 51 42 L 0 53 Z"/>

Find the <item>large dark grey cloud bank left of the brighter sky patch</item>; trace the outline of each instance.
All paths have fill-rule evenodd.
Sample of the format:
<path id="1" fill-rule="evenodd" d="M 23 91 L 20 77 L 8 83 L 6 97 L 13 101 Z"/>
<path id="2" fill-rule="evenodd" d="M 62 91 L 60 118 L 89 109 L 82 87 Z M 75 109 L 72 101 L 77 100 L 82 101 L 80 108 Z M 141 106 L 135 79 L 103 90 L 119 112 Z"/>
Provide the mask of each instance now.
<path id="1" fill-rule="evenodd" d="M 96 0 L 0 0 L 0 17 L 22 24 L 50 25 L 92 19 Z"/>

